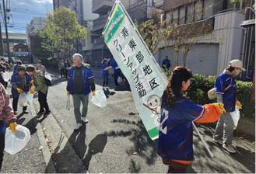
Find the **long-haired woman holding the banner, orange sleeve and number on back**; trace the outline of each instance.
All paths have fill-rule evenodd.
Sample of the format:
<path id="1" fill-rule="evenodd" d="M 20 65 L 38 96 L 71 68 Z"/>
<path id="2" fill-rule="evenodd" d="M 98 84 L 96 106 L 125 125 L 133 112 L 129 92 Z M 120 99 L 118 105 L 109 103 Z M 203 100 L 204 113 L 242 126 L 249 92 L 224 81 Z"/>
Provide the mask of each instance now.
<path id="1" fill-rule="evenodd" d="M 176 67 L 170 75 L 163 92 L 161 105 L 158 154 L 169 172 L 186 172 L 193 160 L 193 126 L 210 123 L 226 112 L 222 103 L 200 106 L 183 96 L 190 85 L 192 72 L 185 67 Z"/>

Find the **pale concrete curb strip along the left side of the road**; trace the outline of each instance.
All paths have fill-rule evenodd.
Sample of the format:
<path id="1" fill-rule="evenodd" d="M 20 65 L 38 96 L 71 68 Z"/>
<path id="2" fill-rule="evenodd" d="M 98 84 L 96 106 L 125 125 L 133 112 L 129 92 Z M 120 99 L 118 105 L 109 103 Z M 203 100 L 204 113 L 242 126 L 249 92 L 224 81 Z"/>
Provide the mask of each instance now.
<path id="1" fill-rule="evenodd" d="M 33 116 L 34 116 L 34 115 L 37 115 L 33 104 L 30 105 L 30 110 L 31 110 L 31 113 L 32 113 Z M 52 161 L 49 148 L 48 148 L 47 143 L 46 143 L 46 141 L 45 141 L 45 139 L 44 139 L 44 133 L 43 133 L 42 127 L 40 126 L 40 123 L 39 123 L 39 121 L 37 120 L 37 117 L 33 117 L 33 123 L 34 123 L 35 125 L 37 125 L 37 126 L 36 126 L 36 129 L 37 129 L 37 137 L 38 137 L 38 140 L 39 140 L 39 142 L 40 142 L 40 145 L 43 146 L 43 148 L 42 148 L 42 153 L 43 153 L 44 162 L 45 162 L 45 165 L 46 165 L 45 172 L 56 173 L 56 169 L 55 169 L 55 167 L 54 167 L 54 162 Z"/>

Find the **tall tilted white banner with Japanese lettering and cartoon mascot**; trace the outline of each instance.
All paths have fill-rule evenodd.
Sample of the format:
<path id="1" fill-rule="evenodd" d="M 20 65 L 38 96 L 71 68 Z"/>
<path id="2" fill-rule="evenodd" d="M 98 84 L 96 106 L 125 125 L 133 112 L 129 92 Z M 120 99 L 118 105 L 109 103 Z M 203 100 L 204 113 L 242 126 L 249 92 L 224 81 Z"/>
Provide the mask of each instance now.
<path id="1" fill-rule="evenodd" d="M 120 1 L 116 1 L 105 29 L 104 41 L 128 79 L 139 116 L 154 140 L 158 138 L 160 106 L 167 78 Z"/>

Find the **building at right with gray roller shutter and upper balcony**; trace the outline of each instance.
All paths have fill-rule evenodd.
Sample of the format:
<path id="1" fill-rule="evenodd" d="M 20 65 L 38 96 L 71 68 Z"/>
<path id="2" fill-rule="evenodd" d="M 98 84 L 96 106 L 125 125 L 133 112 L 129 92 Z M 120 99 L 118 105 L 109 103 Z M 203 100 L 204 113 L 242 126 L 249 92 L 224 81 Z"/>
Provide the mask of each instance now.
<path id="1" fill-rule="evenodd" d="M 177 23 L 177 26 L 191 23 L 198 28 L 207 23 L 207 33 L 198 41 L 187 56 L 186 66 L 193 73 L 219 75 L 232 59 L 240 59 L 249 71 L 255 64 L 255 12 L 254 1 L 241 1 L 231 4 L 227 0 L 163 0 L 158 8 L 163 9 L 163 19 Z M 188 21 L 189 20 L 189 21 Z M 251 22 L 248 22 L 248 20 Z M 243 22 L 244 21 L 244 26 Z M 242 23 L 242 24 L 241 24 Z M 195 30 L 196 32 L 196 30 Z M 191 36 L 193 37 L 193 36 Z M 174 41 L 174 40 L 173 40 Z M 170 42 L 169 50 L 173 49 Z M 175 51 L 161 48 L 155 55 L 161 64 L 165 55 L 177 56 Z M 183 61 L 183 52 L 179 52 L 179 64 Z M 175 67 L 173 62 L 172 68 Z"/>

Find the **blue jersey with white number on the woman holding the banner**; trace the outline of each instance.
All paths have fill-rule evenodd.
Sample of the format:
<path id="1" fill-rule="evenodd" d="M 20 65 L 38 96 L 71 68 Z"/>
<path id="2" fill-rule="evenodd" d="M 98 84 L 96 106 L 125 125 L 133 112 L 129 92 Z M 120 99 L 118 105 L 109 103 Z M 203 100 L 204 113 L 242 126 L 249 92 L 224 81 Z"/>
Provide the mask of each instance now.
<path id="1" fill-rule="evenodd" d="M 174 160 L 193 160 L 193 125 L 204 113 L 204 107 L 182 98 L 174 108 L 161 106 L 159 155 Z M 166 132 L 166 134 L 164 134 Z"/>

